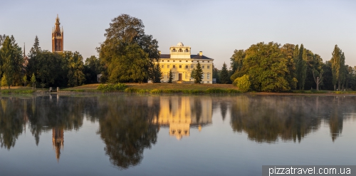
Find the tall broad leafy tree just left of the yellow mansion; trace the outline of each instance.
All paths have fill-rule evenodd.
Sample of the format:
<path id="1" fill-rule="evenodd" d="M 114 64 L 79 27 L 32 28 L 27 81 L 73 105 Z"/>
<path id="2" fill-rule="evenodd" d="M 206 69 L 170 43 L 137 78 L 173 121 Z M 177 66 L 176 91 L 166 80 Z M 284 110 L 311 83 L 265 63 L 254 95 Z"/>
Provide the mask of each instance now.
<path id="1" fill-rule="evenodd" d="M 146 35 L 144 28 L 140 19 L 122 14 L 105 30 L 105 41 L 97 50 L 110 82 L 158 81 L 162 74 L 155 68 L 159 64 L 158 42 Z"/>

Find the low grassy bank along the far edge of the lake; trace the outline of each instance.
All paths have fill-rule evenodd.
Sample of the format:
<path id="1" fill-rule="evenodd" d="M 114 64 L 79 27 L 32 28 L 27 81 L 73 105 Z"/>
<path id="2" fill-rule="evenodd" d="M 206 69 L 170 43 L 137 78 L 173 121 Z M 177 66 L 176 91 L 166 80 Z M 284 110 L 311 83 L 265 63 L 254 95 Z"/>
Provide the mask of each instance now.
<path id="1" fill-rule="evenodd" d="M 123 85 L 123 86 L 122 86 Z M 120 86 L 117 85 L 102 85 L 99 83 L 88 84 L 73 88 L 61 88 L 61 93 L 186 93 L 186 94 L 231 94 L 241 93 L 236 86 L 231 84 L 184 84 L 184 83 L 125 83 Z M 2 87 L 0 92 L 7 93 L 48 93 L 48 88 L 37 88 L 32 90 L 30 87 Z M 53 92 L 56 93 L 56 92 Z M 250 92 L 251 93 L 251 92 Z M 252 92 L 257 93 L 257 92 Z M 260 94 L 260 93 L 257 93 Z M 268 93 L 266 93 L 268 94 Z M 279 93 L 273 93 L 279 94 Z M 290 90 L 283 92 L 283 94 L 343 94 L 355 95 L 356 91 L 332 91 L 332 90 Z"/>

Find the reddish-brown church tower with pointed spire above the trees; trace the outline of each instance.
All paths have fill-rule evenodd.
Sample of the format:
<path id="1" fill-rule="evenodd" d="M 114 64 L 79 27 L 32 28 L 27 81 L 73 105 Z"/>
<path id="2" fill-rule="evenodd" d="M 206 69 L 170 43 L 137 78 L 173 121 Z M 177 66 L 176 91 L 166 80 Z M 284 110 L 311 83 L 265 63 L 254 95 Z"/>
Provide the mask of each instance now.
<path id="1" fill-rule="evenodd" d="M 61 30 L 60 24 L 57 14 L 56 24 L 52 29 L 52 52 L 63 52 L 63 26 Z"/>

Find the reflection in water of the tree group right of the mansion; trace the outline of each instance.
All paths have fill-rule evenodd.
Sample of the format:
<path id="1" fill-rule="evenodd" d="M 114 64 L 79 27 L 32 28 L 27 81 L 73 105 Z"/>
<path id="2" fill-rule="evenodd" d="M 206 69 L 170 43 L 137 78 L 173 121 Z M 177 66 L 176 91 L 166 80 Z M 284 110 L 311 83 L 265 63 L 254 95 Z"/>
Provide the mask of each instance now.
<path id="1" fill-rule="evenodd" d="M 333 97 L 241 96 L 231 106 L 231 127 L 259 143 L 278 138 L 300 142 L 319 128 L 320 117 L 331 115 L 330 132 L 335 140 L 342 130 L 342 113 L 354 112 L 345 103 L 337 103 Z"/>

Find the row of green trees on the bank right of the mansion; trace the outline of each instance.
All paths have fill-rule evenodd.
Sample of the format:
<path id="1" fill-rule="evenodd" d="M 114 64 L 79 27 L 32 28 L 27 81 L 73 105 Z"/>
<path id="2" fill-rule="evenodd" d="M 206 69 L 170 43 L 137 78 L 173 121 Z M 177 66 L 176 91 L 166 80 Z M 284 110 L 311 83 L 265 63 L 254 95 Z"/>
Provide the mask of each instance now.
<path id="1" fill-rule="evenodd" d="M 345 53 L 335 45 L 330 61 L 303 44 L 256 43 L 235 50 L 231 68 L 213 68 L 218 83 L 234 83 L 244 91 L 356 90 L 356 67 L 345 65 Z"/>

